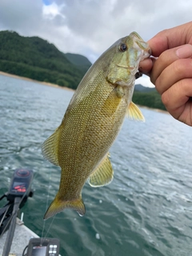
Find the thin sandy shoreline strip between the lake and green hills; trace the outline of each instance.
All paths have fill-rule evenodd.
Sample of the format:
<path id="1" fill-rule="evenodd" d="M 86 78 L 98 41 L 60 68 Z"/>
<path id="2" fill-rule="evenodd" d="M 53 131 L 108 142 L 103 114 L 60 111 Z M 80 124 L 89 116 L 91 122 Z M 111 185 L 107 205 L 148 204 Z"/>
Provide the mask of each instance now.
<path id="1" fill-rule="evenodd" d="M 10 73 L 6 73 L 6 72 L 2 72 L 0 71 L 0 74 L 1 75 L 5 75 L 7 77 L 10 77 L 10 78 L 17 78 L 17 79 L 22 79 L 22 80 L 26 80 L 26 81 L 29 81 L 29 82 L 37 82 L 43 86 L 51 86 L 51 87 L 55 87 L 55 88 L 59 88 L 59 89 L 62 89 L 62 90 L 70 90 L 70 91 L 75 91 L 73 89 L 70 89 L 68 87 L 65 87 L 65 86 L 58 86 L 54 83 L 50 83 L 50 82 L 41 82 L 41 81 L 38 81 L 38 80 L 34 80 L 34 79 L 31 79 L 31 78 L 26 78 L 26 77 L 21 77 L 17 74 L 10 74 Z M 140 106 L 140 105 L 138 105 Z M 148 107 L 148 106 L 140 106 L 146 110 L 154 110 L 156 112 L 160 112 L 160 113 L 164 113 L 164 114 L 168 114 L 168 112 L 166 110 L 159 110 L 159 109 L 154 109 L 152 107 Z"/>

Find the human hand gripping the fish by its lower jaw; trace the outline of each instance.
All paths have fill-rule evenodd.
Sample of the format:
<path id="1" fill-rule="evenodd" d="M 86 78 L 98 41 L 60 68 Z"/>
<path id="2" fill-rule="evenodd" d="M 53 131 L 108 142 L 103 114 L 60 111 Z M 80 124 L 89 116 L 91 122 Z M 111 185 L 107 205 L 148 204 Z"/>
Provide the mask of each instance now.
<path id="1" fill-rule="evenodd" d="M 166 110 L 192 126 L 192 22 L 163 30 L 149 40 L 152 55 L 140 63 Z"/>

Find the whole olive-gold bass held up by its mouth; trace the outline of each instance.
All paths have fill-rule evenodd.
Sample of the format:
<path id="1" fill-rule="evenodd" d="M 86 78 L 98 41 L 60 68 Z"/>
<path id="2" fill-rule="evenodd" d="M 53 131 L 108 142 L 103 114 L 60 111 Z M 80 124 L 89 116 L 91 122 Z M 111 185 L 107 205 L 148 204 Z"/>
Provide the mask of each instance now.
<path id="1" fill-rule="evenodd" d="M 132 102 L 139 62 L 150 46 L 136 33 L 114 42 L 86 72 L 70 100 L 62 123 L 42 144 L 42 155 L 60 166 L 61 179 L 44 219 L 66 208 L 86 213 L 82 188 L 109 184 L 114 178 L 112 146 L 126 115 L 144 121 Z"/>

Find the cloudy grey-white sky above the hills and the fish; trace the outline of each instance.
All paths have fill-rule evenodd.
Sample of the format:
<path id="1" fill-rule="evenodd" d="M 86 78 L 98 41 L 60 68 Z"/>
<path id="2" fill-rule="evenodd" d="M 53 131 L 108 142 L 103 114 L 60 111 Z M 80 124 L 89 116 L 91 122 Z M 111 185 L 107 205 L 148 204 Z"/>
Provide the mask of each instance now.
<path id="1" fill-rule="evenodd" d="M 0 30 L 39 36 L 94 62 L 118 38 L 135 30 L 147 41 L 190 22 L 191 11 L 191 0 L 0 0 Z"/>

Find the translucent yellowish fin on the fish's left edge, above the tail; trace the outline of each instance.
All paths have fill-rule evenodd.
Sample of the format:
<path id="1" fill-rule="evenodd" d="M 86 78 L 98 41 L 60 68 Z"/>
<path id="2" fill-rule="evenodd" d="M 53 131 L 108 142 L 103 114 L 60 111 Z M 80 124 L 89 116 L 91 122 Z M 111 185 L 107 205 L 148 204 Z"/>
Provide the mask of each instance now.
<path id="1" fill-rule="evenodd" d="M 52 162 L 55 166 L 58 164 L 58 141 L 61 133 L 61 126 L 54 131 L 54 134 L 50 135 L 49 138 L 42 144 L 42 155 L 44 158 Z"/>

